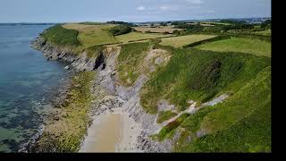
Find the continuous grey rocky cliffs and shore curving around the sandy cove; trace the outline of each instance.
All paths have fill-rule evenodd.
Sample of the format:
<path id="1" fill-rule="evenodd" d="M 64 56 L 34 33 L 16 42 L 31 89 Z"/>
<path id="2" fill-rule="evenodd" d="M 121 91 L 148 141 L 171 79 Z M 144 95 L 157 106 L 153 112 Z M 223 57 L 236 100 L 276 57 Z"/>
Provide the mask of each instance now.
<path id="1" fill-rule="evenodd" d="M 130 119 L 134 121 L 134 128 L 139 129 L 139 131 L 136 134 L 137 136 L 133 136 L 136 137 L 136 142 L 130 146 L 130 149 L 125 149 L 126 151 L 172 151 L 172 143 L 178 137 L 173 137 L 173 140 L 164 140 L 162 142 L 149 138 L 149 135 L 154 134 L 161 128 L 161 125 L 156 123 L 157 114 L 145 113 L 139 104 L 139 90 L 147 81 L 147 76 L 142 74 L 134 85 L 128 88 L 119 84 L 116 72 L 116 59 L 120 54 L 120 47 L 107 47 L 100 55 L 100 58 L 102 59 L 103 57 L 104 61 L 100 62 L 98 61 L 98 57 L 88 58 L 85 52 L 80 55 L 74 54 L 71 50 L 49 44 L 41 37 L 31 42 L 31 47 L 40 50 L 48 60 L 70 63 L 76 71 L 97 72 L 92 87 L 92 95 L 96 99 L 92 104 L 89 116 L 105 114 L 106 111 L 113 113 L 116 108 L 122 108 L 125 113 L 129 114 Z M 81 141 L 81 147 L 82 144 L 83 140 Z"/>

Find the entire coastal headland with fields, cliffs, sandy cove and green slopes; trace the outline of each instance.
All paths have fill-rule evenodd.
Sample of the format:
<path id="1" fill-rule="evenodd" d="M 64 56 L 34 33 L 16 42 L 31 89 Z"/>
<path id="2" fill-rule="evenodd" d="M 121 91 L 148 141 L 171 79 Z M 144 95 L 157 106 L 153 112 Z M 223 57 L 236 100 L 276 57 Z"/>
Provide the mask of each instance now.
<path id="1" fill-rule="evenodd" d="M 26 151 L 271 151 L 271 57 L 265 37 L 139 31 L 110 36 L 106 29 L 113 28 L 57 25 L 31 43 L 48 60 L 70 63 L 66 69 L 75 75 Z M 94 32 L 111 43 L 90 44 L 86 37 Z M 132 38 L 138 35 L 155 38 L 136 42 Z M 123 38 L 132 40 L 118 44 Z M 234 42 L 244 43 L 245 53 L 235 51 Z M 229 43 L 231 52 L 216 51 L 220 43 Z M 253 47 L 257 43 L 259 49 Z"/>

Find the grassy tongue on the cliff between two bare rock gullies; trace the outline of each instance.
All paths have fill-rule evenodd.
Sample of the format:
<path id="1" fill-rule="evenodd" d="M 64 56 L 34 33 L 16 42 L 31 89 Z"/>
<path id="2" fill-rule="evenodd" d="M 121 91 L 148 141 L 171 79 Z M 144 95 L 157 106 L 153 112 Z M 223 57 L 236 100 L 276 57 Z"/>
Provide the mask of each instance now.
<path id="1" fill-rule="evenodd" d="M 139 77 L 140 64 L 147 55 L 148 42 L 122 45 L 117 60 L 119 78 L 124 86 L 132 85 Z"/>

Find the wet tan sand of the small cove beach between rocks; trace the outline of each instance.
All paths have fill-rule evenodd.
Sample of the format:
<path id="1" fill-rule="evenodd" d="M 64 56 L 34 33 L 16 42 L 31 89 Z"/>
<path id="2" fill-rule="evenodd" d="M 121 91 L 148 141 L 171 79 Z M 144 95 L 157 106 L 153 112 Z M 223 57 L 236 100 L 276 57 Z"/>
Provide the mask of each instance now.
<path id="1" fill-rule="evenodd" d="M 138 125 L 121 108 L 94 116 L 79 152 L 132 152 L 139 135 Z"/>

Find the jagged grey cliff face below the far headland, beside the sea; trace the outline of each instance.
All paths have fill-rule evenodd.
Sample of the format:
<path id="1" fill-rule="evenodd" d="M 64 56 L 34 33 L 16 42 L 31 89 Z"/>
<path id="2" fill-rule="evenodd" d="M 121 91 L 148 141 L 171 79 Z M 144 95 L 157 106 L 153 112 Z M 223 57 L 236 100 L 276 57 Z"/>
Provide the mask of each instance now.
<path id="1" fill-rule="evenodd" d="M 30 46 L 43 52 L 47 60 L 62 60 L 71 63 L 71 66 L 78 71 L 93 71 L 105 68 L 104 52 L 97 57 L 88 57 L 86 52 L 76 54 L 65 47 L 55 47 L 41 37 L 31 42 Z"/>

